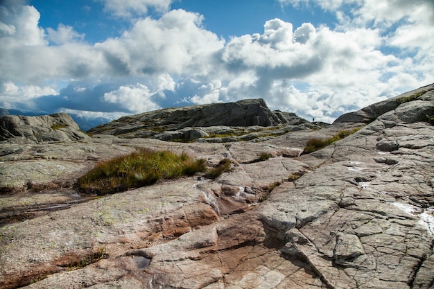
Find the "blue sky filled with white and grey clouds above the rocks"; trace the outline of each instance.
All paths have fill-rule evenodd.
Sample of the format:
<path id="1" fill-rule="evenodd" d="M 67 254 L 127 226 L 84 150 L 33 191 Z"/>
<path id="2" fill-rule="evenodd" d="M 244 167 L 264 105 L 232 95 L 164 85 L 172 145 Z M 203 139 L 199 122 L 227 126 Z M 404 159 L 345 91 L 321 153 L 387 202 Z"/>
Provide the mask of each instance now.
<path id="1" fill-rule="evenodd" d="M 434 82 L 433 35 L 433 0 L 0 0 L 0 107 L 263 98 L 331 123 Z"/>

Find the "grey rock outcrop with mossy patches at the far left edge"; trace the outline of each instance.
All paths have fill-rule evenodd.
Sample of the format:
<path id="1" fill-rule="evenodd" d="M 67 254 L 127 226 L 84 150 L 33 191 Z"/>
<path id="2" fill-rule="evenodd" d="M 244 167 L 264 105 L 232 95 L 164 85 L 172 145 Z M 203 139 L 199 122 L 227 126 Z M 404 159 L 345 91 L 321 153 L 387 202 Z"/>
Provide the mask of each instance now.
<path id="1" fill-rule="evenodd" d="M 66 113 L 49 116 L 0 116 L 0 141 L 28 143 L 76 141 L 87 135 Z"/>

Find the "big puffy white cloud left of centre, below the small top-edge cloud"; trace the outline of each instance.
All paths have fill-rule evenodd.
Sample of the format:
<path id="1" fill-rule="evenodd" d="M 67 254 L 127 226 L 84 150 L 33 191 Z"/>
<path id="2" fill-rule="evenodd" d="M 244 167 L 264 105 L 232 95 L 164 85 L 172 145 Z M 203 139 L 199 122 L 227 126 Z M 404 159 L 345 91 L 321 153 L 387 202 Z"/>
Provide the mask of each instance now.
<path id="1" fill-rule="evenodd" d="M 224 41 L 201 28 L 203 17 L 184 10 L 171 10 L 160 19 L 137 21 L 121 37 L 95 44 L 114 75 L 211 73 L 212 55 Z"/>

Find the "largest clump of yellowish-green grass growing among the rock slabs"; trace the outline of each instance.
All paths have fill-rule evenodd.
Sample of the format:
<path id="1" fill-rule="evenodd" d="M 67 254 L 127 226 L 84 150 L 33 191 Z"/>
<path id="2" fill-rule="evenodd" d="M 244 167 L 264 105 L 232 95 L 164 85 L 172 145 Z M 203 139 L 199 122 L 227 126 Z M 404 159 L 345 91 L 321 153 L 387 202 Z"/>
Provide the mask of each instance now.
<path id="1" fill-rule="evenodd" d="M 97 164 L 77 182 L 83 193 L 105 195 L 205 171 L 205 159 L 191 159 L 186 153 L 141 149 Z"/>

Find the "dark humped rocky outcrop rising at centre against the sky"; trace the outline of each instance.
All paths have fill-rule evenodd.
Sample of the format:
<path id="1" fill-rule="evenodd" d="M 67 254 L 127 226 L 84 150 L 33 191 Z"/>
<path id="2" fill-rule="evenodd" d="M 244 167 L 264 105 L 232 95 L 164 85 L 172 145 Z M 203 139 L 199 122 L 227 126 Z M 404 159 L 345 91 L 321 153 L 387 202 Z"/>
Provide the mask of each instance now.
<path id="1" fill-rule="evenodd" d="M 277 125 L 307 125 L 309 121 L 295 114 L 268 109 L 265 101 L 259 99 L 239 100 L 236 103 L 214 103 L 173 107 L 125 116 L 111 123 L 99 125 L 88 132 L 91 134 L 112 134 L 123 138 L 155 138 L 162 140 L 196 140 L 207 135 L 202 128 L 269 127 Z M 310 124 L 310 123 L 309 123 Z M 311 125 L 315 126 L 315 125 Z M 238 127 L 238 129 L 236 129 Z"/>

